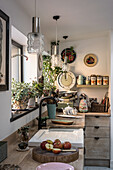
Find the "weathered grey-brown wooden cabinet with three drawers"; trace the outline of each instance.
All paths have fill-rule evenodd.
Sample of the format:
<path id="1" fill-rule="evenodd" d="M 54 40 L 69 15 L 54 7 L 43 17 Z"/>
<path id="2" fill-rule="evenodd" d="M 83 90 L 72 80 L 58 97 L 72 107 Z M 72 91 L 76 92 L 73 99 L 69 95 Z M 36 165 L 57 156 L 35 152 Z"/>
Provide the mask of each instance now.
<path id="1" fill-rule="evenodd" d="M 85 165 L 109 167 L 110 117 L 86 116 L 85 121 Z"/>

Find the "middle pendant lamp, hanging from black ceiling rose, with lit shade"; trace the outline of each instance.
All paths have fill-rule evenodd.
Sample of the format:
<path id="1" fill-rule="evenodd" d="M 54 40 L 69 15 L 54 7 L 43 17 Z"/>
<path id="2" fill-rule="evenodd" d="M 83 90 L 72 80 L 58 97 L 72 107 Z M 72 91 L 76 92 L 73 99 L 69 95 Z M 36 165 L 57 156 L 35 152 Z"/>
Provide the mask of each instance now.
<path id="1" fill-rule="evenodd" d="M 56 20 L 56 42 L 54 45 L 54 54 L 52 55 L 52 65 L 53 67 L 59 66 L 59 41 L 57 39 L 57 20 L 60 18 L 59 15 L 53 16 L 53 19 Z"/>

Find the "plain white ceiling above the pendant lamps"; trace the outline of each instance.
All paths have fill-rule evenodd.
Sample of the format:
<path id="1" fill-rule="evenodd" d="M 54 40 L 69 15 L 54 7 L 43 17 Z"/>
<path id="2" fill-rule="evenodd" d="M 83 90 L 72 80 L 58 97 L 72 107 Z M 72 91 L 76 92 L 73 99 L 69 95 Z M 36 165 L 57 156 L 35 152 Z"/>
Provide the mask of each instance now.
<path id="1" fill-rule="evenodd" d="M 35 15 L 35 0 L 16 1 L 30 18 Z M 37 0 L 36 9 L 41 32 L 50 41 L 55 41 L 54 15 L 61 16 L 57 21 L 60 41 L 64 35 L 73 41 L 103 36 L 113 29 L 113 0 Z"/>

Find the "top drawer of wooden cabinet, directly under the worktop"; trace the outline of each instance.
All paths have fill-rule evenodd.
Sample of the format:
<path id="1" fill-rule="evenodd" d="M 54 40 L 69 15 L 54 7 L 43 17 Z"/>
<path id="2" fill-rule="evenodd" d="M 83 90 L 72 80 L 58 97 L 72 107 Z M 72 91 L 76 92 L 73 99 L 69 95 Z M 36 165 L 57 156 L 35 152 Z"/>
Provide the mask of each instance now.
<path id="1" fill-rule="evenodd" d="M 85 124 L 86 126 L 109 126 L 110 118 L 102 116 L 87 116 Z"/>

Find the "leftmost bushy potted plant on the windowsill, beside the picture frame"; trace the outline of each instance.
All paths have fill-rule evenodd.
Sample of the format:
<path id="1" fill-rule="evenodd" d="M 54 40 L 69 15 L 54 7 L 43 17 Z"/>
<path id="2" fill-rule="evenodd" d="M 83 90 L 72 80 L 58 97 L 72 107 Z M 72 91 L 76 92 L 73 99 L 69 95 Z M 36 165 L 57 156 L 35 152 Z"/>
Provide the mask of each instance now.
<path id="1" fill-rule="evenodd" d="M 30 98 L 30 84 L 12 80 L 12 105 L 15 109 L 26 109 Z"/>

